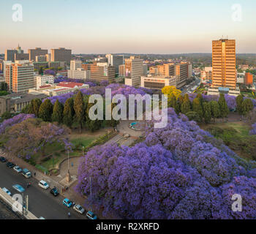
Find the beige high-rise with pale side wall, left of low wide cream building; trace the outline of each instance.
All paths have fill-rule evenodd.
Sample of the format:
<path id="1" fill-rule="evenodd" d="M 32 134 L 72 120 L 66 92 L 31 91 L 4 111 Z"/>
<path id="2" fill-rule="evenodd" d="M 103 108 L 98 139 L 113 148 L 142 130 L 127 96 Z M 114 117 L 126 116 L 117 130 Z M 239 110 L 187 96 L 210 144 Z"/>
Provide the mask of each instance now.
<path id="1" fill-rule="evenodd" d="M 143 59 L 135 56 L 125 59 L 125 84 L 127 86 L 140 86 L 141 75 L 143 75 Z"/>

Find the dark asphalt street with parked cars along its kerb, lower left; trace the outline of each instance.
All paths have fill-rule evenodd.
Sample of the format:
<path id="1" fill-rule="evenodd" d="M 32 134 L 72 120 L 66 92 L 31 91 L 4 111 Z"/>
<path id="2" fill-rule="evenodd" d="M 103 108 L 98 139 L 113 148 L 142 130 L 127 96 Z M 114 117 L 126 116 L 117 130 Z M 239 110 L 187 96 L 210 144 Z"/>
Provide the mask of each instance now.
<path id="1" fill-rule="evenodd" d="M 26 188 L 26 184 L 31 182 L 31 187 Z M 68 219 L 68 212 L 71 217 L 69 219 L 86 219 L 86 215 L 80 215 L 73 211 L 72 208 L 67 208 L 62 205 L 64 197 L 60 195 L 53 197 L 50 194 L 50 189 L 47 191 L 38 186 L 38 182 L 34 178 L 26 179 L 22 175 L 16 173 L 13 169 L 9 169 L 5 163 L 0 162 L 0 187 L 6 187 L 13 194 L 16 194 L 12 185 L 20 184 L 26 191 L 25 195 L 29 195 L 29 211 L 37 217 L 45 219 Z M 80 204 L 83 205 L 83 204 Z"/>

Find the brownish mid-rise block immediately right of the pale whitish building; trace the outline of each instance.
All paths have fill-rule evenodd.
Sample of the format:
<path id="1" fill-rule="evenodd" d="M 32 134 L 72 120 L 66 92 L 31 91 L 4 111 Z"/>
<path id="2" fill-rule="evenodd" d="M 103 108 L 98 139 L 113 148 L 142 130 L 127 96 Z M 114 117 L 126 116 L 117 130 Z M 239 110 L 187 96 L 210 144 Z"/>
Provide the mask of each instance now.
<path id="1" fill-rule="evenodd" d="M 94 63 L 91 65 L 90 81 L 101 82 L 108 80 L 109 83 L 113 83 L 115 78 L 116 69 L 108 63 Z"/>

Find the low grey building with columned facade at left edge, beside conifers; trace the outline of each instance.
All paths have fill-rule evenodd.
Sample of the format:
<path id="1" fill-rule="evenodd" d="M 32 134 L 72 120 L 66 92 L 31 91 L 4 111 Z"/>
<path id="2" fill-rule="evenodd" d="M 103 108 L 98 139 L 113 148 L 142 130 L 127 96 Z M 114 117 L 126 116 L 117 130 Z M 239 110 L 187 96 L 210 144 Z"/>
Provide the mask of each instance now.
<path id="1" fill-rule="evenodd" d="M 19 113 L 24 107 L 29 105 L 33 99 L 45 99 L 45 94 L 31 92 L 30 94 L 9 94 L 0 97 L 0 115 L 5 112 Z"/>

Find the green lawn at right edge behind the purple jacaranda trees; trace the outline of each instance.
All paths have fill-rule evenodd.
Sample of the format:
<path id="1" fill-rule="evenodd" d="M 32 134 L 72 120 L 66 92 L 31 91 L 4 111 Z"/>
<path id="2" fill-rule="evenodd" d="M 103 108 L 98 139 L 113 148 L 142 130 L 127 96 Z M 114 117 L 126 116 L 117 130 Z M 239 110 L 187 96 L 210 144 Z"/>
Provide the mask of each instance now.
<path id="1" fill-rule="evenodd" d="M 239 156 L 256 160 L 256 136 L 249 135 L 250 127 L 243 122 L 208 124 L 203 127 L 211 135 L 222 139 Z"/>

